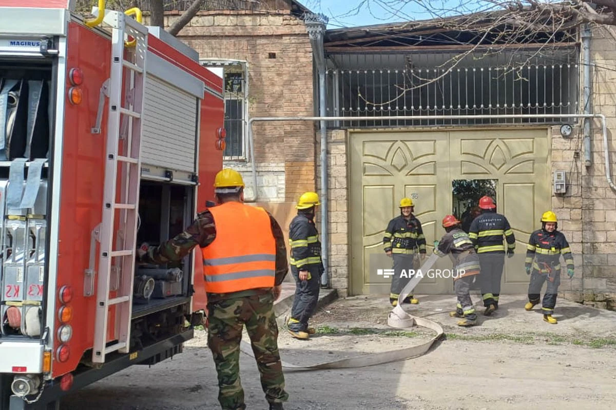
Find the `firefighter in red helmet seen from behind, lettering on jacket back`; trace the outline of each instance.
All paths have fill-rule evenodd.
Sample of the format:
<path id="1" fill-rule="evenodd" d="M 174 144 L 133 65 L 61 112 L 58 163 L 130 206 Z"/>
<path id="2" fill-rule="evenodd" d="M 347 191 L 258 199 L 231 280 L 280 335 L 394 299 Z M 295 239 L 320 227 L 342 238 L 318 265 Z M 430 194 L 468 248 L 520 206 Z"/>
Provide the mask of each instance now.
<path id="1" fill-rule="evenodd" d="M 509 221 L 505 216 L 496 213 L 496 204 L 492 198 L 484 196 L 479 199 L 481 215 L 472 221 L 468 234 L 472 240 L 481 264 L 481 294 L 484 299 L 484 315 L 490 316 L 498 309 L 501 277 L 505 267 L 505 245 L 503 235 L 507 242 L 507 256 L 513 257 L 516 249 L 516 237 L 511 230 Z"/>

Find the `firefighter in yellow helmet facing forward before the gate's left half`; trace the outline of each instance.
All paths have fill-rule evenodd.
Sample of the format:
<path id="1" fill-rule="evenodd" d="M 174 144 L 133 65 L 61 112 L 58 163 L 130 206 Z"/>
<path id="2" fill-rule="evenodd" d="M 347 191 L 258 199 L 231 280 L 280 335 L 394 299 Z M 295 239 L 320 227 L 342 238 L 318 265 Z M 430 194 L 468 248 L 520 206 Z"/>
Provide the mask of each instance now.
<path id="1" fill-rule="evenodd" d="M 400 292 L 411 280 L 413 275 L 408 277 L 400 277 L 402 270 L 419 269 L 421 259 L 426 258 L 426 237 L 424 237 L 421 229 L 421 222 L 413 215 L 415 204 L 409 198 L 400 200 L 400 216 L 395 217 L 385 230 L 383 236 L 383 245 L 387 256 L 391 256 L 394 260 L 394 277 L 391 280 L 391 290 L 389 293 L 389 302 L 392 306 L 397 306 Z M 418 304 L 419 301 L 408 295 L 403 302 Z"/>

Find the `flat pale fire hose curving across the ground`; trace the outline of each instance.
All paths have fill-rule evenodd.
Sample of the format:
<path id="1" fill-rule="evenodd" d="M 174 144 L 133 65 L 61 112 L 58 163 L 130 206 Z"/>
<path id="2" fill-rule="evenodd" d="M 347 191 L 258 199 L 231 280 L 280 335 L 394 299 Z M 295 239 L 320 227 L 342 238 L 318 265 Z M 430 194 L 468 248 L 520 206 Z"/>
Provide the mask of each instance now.
<path id="1" fill-rule="evenodd" d="M 438 255 L 434 253 L 431 254 L 431 256 L 426 259 L 423 266 L 421 266 L 421 270 L 425 272 L 426 270 L 430 269 L 437 261 L 437 259 L 439 259 Z M 392 361 L 407 360 L 424 355 L 428 352 L 428 350 L 430 350 L 434 342 L 436 342 L 438 339 L 440 339 L 440 337 L 443 336 L 443 328 L 439 325 L 439 323 L 436 323 L 436 321 L 410 315 L 405 312 L 402 307 L 400 307 L 402 305 L 402 301 L 411 293 L 411 291 L 413 291 L 421 278 L 421 275 L 416 275 L 407 283 L 407 286 L 405 286 L 400 292 L 400 296 L 398 298 L 398 305 L 389 313 L 389 317 L 387 317 L 387 325 L 396 329 L 409 329 L 413 326 L 421 326 L 424 328 L 431 329 L 436 334 L 429 341 L 410 347 L 404 347 L 403 349 L 390 350 L 389 352 L 370 353 L 368 355 L 328 361 L 312 366 L 298 366 L 293 365 L 292 363 L 286 363 L 285 361 L 282 361 L 282 367 L 285 369 L 290 369 L 291 371 L 351 369 L 366 366 L 383 365 L 384 363 L 391 363 Z M 240 349 L 242 352 L 254 358 L 253 350 L 247 342 L 241 342 Z"/>

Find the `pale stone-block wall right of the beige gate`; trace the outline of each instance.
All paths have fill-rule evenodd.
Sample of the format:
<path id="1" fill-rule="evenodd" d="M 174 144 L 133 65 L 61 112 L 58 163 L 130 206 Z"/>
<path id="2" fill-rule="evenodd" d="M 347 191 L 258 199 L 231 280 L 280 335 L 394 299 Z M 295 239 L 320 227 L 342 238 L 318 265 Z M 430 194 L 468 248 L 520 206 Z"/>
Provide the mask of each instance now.
<path id="1" fill-rule="evenodd" d="M 591 40 L 591 112 L 606 116 L 612 181 L 616 181 L 616 149 L 612 141 L 612 130 L 616 128 L 616 73 L 610 67 L 616 65 L 615 39 L 616 31 L 598 28 Z M 552 168 L 567 170 L 569 187 L 565 195 L 554 195 L 552 203 L 562 221 L 559 228 L 577 254 L 573 291 L 561 285 L 561 292 L 567 299 L 616 310 L 616 192 L 606 178 L 601 122 L 596 119 L 592 123 L 590 167 L 584 164 L 581 125 L 582 122 L 570 139 L 562 138 L 557 127 L 553 129 Z"/>

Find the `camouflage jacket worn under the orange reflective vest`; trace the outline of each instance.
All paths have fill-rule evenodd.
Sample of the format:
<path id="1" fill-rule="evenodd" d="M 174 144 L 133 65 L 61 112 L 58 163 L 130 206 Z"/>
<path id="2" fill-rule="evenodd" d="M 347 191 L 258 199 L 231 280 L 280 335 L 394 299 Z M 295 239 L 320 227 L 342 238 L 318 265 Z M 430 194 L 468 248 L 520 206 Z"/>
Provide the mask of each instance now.
<path id="1" fill-rule="evenodd" d="M 266 211 L 267 212 L 267 211 Z M 276 240 L 276 279 L 275 285 L 280 285 L 288 273 L 288 260 L 286 257 L 285 237 L 280 225 L 274 217 L 270 217 L 272 234 Z M 197 219 L 188 226 L 184 232 L 176 237 L 161 243 L 159 246 L 150 246 L 147 253 L 140 259 L 142 262 L 151 264 L 164 264 L 169 261 L 179 261 L 184 258 L 195 246 L 205 248 L 216 239 L 216 226 L 212 213 L 205 210 L 197 215 Z M 241 295 L 240 295 L 241 293 Z M 234 296 L 248 296 L 259 293 L 258 290 L 246 290 L 236 292 Z M 210 295 L 208 295 L 210 298 Z"/>

